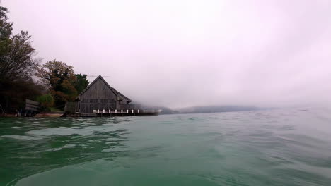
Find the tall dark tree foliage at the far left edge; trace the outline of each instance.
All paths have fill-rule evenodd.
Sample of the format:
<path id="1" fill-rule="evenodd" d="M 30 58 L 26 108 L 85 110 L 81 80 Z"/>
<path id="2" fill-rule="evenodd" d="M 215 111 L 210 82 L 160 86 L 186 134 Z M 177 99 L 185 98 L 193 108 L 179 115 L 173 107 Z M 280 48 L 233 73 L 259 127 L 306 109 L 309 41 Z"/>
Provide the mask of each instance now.
<path id="1" fill-rule="evenodd" d="M 0 6 L 0 104 L 8 111 L 23 108 L 25 99 L 35 99 L 45 87 L 33 81 L 38 61 L 26 31 L 12 34 L 7 8 Z"/>

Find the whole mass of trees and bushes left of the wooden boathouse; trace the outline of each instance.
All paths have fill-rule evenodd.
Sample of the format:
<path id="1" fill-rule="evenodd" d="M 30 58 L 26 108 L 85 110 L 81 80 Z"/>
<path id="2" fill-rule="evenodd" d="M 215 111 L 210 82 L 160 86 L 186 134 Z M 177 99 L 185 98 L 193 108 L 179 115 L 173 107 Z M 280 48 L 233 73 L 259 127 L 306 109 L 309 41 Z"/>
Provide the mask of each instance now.
<path id="1" fill-rule="evenodd" d="M 14 35 L 7 13 L 8 9 L 0 6 L 0 105 L 14 111 L 23 108 L 25 99 L 57 108 L 74 101 L 88 86 L 86 75 L 75 75 L 72 66 L 55 59 L 40 66 L 31 36 L 27 31 Z M 35 75 L 43 85 L 34 81 Z"/>

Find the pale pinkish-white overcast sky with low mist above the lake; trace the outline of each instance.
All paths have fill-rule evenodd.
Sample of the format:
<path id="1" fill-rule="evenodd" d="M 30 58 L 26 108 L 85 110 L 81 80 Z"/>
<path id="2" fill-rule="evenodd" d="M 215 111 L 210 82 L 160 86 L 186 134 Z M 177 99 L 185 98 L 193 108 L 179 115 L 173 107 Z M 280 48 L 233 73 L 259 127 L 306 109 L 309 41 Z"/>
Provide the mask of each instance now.
<path id="1" fill-rule="evenodd" d="M 3 0 L 43 63 L 170 106 L 331 103 L 331 1 Z M 89 77 L 92 81 L 95 77 Z"/>

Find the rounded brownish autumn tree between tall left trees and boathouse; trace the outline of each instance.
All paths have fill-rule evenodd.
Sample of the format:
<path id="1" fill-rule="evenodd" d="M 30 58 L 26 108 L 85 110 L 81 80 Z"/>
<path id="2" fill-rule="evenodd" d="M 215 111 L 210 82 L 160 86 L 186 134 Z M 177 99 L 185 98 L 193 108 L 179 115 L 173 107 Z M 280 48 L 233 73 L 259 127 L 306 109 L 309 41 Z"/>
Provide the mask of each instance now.
<path id="1" fill-rule="evenodd" d="M 56 106 L 64 107 L 66 101 L 74 101 L 76 98 L 76 76 L 72 66 L 54 59 L 39 68 L 37 75 L 50 88 Z"/>

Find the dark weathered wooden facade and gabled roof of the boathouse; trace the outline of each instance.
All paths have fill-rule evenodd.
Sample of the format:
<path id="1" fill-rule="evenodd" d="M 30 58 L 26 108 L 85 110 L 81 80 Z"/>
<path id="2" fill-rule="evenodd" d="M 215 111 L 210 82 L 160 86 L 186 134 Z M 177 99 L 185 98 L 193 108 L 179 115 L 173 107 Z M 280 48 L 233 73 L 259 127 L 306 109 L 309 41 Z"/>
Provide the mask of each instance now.
<path id="1" fill-rule="evenodd" d="M 93 113 L 93 110 L 140 109 L 139 105 L 129 104 L 130 102 L 131 99 L 110 87 L 108 82 L 99 75 L 79 94 L 74 107 L 75 112 L 79 113 Z M 72 107 L 71 111 L 73 111 Z"/>

